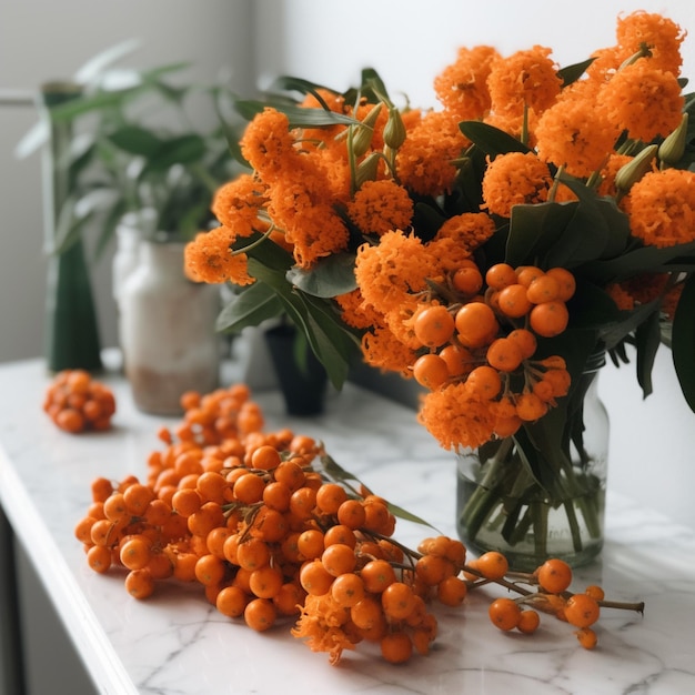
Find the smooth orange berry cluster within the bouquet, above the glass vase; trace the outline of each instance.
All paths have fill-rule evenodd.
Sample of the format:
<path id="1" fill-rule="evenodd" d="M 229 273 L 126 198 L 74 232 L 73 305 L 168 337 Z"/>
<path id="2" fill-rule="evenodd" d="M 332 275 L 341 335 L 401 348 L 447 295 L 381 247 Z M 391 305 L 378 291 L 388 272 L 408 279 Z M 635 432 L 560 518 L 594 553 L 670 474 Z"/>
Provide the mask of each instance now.
<path id="1" fill-rule="evenodd" d="M 566 329 L 574 291 L 574 276 L 563 268 L 497 263 L 483 276 L 473 261 L 464 261 L 445 284 L 433 284 L 409 320 L 414 344 L 427 351 L 414 362 L 413 376 L 431 391 L 465 382 L 483 400 L 502 402 L 496 434 L 513 434 L 567 393 L 564 360 L 533 356 L 538 336 Z"/>

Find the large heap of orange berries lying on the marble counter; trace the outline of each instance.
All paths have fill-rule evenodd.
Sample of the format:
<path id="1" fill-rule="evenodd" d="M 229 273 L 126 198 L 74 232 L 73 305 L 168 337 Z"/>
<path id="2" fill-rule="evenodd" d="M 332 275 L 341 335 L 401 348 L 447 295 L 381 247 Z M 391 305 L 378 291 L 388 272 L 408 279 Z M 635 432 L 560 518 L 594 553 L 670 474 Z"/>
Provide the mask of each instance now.
<path id="1" fill-rule="evenodd" d="M 263 432 L 246 386 L 182 403 L 179 425 L 158 433 L 164 446 L 149 455 L 147 480 L 94 480 L 74 528 L 89 566 L 123 571 L 133 597 L 149 597 L 159 582 L 197 584 L 221 614 L 255 631 L 293 620 L 292 635 L 333 664 L 360 642 L 402 663 L 426 654 L 436 636 L 433 600 L 460 606 L 490 581 L 520 591 L 498 553 L 466 564 L 465 546 L 447 536 L 416 551 L 399 543 L 386 501 L 312 437 Z M 550 593 L 565 587 L 546 574 L 530 577 L 543 590 L 517 603 L 557 612 L 557 596 L 571 620 L 571 601 Z M 532 632 L 528 618 L 515 626 Z"/>

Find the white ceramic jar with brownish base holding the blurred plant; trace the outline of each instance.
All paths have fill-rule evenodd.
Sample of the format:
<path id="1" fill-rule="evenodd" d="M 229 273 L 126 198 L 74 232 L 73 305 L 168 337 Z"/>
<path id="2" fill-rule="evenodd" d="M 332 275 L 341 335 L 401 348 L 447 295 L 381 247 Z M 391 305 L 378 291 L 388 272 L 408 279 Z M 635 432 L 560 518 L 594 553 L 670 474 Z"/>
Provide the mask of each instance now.
<path id="1" fill-rule="evenodd" d="M 219 385 L 219 288 L 185 276 L 183 248 L 141 241 L 119 296 L 125 376 L 138 409 L 157 415 L 178 415 L 183 393 Z"/>

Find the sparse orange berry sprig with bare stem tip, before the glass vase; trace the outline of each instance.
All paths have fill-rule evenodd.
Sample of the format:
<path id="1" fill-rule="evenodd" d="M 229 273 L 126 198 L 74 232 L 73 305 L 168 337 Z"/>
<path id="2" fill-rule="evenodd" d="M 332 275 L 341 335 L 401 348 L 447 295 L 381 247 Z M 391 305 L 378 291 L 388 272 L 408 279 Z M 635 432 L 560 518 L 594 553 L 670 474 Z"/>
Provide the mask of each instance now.
<path id="1" fill-rule="evenodd" d="M 513 573 L 513 583 L 505 578 L 508 575 L 506 558 L 495 551 L 472 560 L 466 566 L 466 573 L 471 587 L 493 581 L 521 594 L 517 598 L 506 596 L 495 598 L 490 604 L 490 620 L 500 629 L 504 632 L 517 629 L 532 634 L 541 624 L 540 611 L 576 627 L 574 634 L 585 649 L 593 649 L 598 642 L 592 626 L 598 621 L 602 605 L 644 611 L 643 603 L 604 604 L 604 591 L 597 585 L 587 586 L 583 593 L 570 592 L 572 568 L 556 557 L 546 560 L 532 574 Z M 526 590 L 521 586 L 522 583 L 533 588 Z"/>

